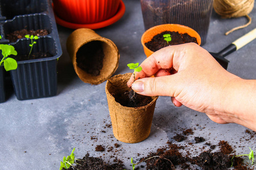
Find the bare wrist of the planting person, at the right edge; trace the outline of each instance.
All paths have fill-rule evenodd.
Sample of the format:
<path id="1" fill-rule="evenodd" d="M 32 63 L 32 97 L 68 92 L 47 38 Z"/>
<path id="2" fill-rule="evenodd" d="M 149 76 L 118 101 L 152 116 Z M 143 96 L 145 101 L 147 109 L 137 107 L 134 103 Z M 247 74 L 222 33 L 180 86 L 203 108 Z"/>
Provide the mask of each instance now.
<path id="1" fill-rule="evenodd" d="M 222 117 L 230 123 L 256 130 L 255 89 L 255 80 L 232 78 L 222 92 Z"/>

